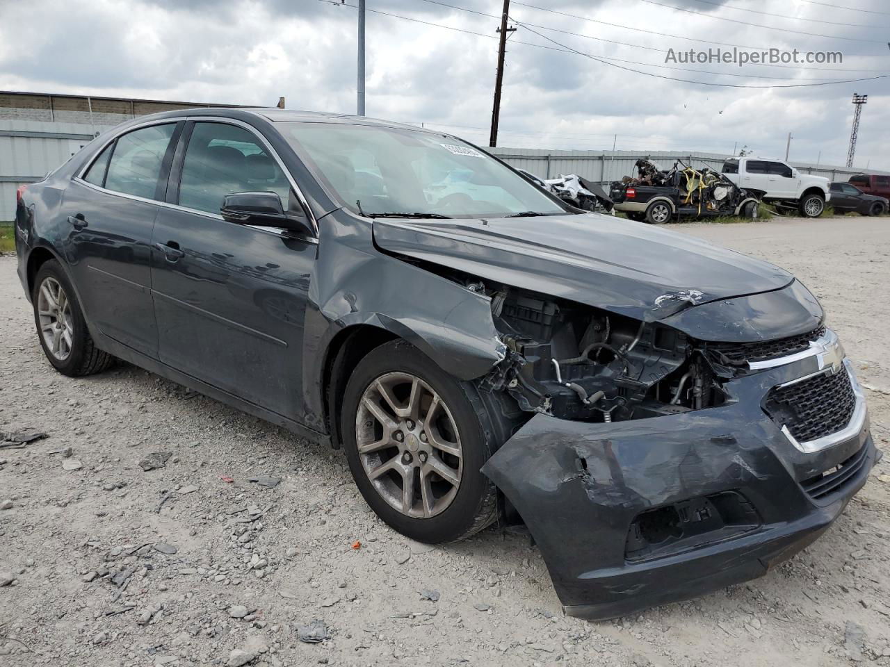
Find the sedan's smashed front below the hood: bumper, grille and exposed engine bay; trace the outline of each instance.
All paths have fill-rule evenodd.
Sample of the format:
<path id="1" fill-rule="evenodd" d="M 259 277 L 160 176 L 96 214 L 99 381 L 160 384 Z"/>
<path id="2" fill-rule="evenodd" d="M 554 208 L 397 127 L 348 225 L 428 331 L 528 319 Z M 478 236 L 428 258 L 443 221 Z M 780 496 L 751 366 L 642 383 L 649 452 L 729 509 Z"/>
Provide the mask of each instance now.
<path id="1" fill-rule="evenodd" d="M 483 387 L 535 415 L 482 471 L 570 615 L 624 615 L 763 575 L 868 477 L 862 390 L 824 325 L 715 342 L 522 290 L 490 296 L 508 351 Z M 696 299 L 666 295 L 665 320 L 694 322 Z M 732 301 L 756 303 L 719 306 L 744 308 Z"/>

